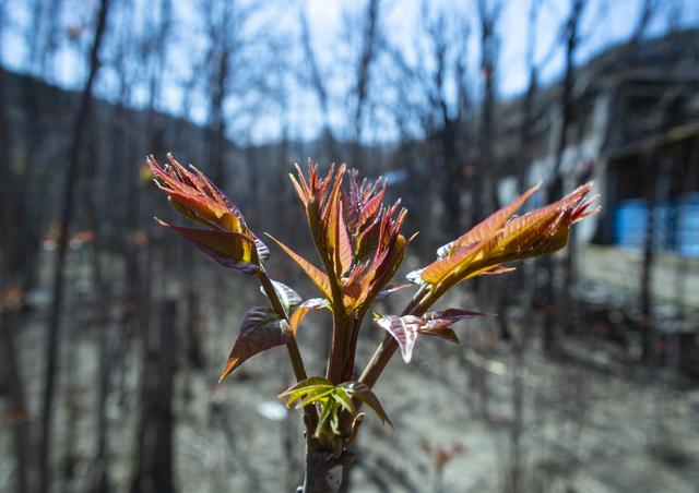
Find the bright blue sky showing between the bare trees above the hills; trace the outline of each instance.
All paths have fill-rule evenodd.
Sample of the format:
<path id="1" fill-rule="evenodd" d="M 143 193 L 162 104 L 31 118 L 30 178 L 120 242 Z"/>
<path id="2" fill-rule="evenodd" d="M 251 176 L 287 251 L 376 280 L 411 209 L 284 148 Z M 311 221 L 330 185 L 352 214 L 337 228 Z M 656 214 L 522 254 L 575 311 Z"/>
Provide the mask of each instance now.
<path id="1" fill-rule="evenodd" d="M 189 99 L 188 116 L 198 122 L 208 119 L 208 99 L 205 88 L 198 83 L 194 93 L 185 97 L 185 81 L 192 79 L 198 63 L 206 51 L 206 37 L 203 25 L 204 2 L 206 0 L 174 0 L 174 26 L 168 40 L 168 58 L 166 67 L 162 68 L 163 92 L 158 98 L 158 107 L 164 111 L 181 115 L 183 104 Z M 247 0 L 246 0 L 247 1 Z M 239 0 L 238 4 L 246 4 Z M 498 62 L 497 89 L 502 98 L 513 97 L 521 93 L 526 85 L 525 46 L 528 37 L 528 12 L 532 0 L 505 0 L 502 16 L 498 25 L 501 39 Z M 556 79 L 562 68 L 562 48 L 557 49 L 560 25 L 567 15 L 569 0 L 540 0 L 541 9 L 536 29 L 537 61 L 547 59 L 542 68 L 544 82 Z M 579 61 L 582 62 L 591 55 L 603 50 L 611 44 L 625 40 L 637 23 L 642 0 L 589 0 L 582 24 L 582 39 Z M 94 15 L 96 0 L 63 0 L 63 9 L 59 15 L 61 33 L 69 28 L 80 29 L 90 26 Z M 123 2 L 115 2 L 120 5 Z M 156 1 L 133 0 L 134 10 L 128 17 L 117 8 L 110 19 L 110 27 L 130 29 L 133 38 L 139 39 L 151 28 L 157 20 Z M 260 2 L 258 2 L 260 3 Z M 657 14 L 649 31 L 650 35 L 665 32 L 671 23 L 679 26 L 699 25 L 699 2 L 692 0 L 663 1 L 657 3 Z M 31 60 L 31 5 L 28 0 L 5 0 L 5 28 L 3 31 L 2 63 L 20 71 L 36 70 L 36 61 Z M 275 51 L 280 62 L 264 70 L 265 84 L 284 86 L 285 97 L 280 101 L 264 101 L 265 96 L 251 93 L 247 87 L 250 81 L 234 81 L 232 94 L 226 103 L 230 121 L 230 136 L 239 141 L 262 142 L 277 139 L 282 127 L 286 127 L 293 137 L 311 139 L 322 123 L 319 106 L 315 93 L 299 80 L 297 72 L 303 72 L 304 56 L 299 39 L 299 13 L 305 12 L 309 19 L 313 49 L 318 57 L 323 81 L 327 83 L 331 107 L 333 130 L 340 136 L 347 132 L 348 92 L 352 87 L 351 68 L 356 60 L 360 47 L 360 19 L 365 5 L 364 1 L 351 0 L 306 0 L 282 1 L 269 0 L 261 2 L 263 7 L 257 10 L 246 23 L 250 39 L 254 43 L 261 38 L 259 33 L 265 33 L 272 40 L 265 40 L 260 46 L 252 46 L 241 55 L 241 63 L 250 65 L 250 74 L 256 73 L 256 57 L 269 58 L 264 51 Z M 384 36 L 392 46 L 403 51 L 407 59 L 414 59 L 416 49 L 426 41 L 420 34 L 420 17 L 423 15 L 422 0 L 382 0 L 381 27 Z M 431 12 L 445 9 L 449 12 L 449 22 L 454 35 L 461 33 L 463 26 L 469 26 L 471 36 L 466 48 L 469 73 L 473 77 L 471 85 L 472 97 L 477 99 L 478 86 L 478 44 L 477 26 L 475 23 L 476 2 L 433 0 L 429 2 Z M 120 13 L 121 12 L 121 13 Z M 245 31 L 244 29 L 244 31 Z M 88 29 L 82 35 L 69 39 L 62 34 L 59 49 L 54 63 L 47 70 L 47 79 L 60 86 L 79 87 L 85 76 L 84 52 L 90 40 Z M 119 74 L 110 64 L 116 52 L 116 40 L 107 39 L 104 59 L 105 69 L 100 73 L 97 93 L 102 97 L 114 99 L 117 94 Z M 262 41 L 260 41 L 262 43 Z M 458 39 L 454 38 L 454 44 Z M 271 48 L 270 48 L 271 47 Z M 548 53 L 552 57 L 547 57 Z M 133 55 L 135 57 L 135 52 Z M 427 59 L 425 64 L 429 64 Z M 247 67 L 246 65 L 246 67 Z M 391 74 L 383 65 L 372 72 L 375 81 L 374 97 L 379 101 L 391 97 Z M 134 106 L 142 106 L 147 100 L 147 84 L 145 74 L 139 76 L 141 68 L 134 61 L 131 69 L 137 81 L 130 101 Z M 250 75 L 251 77 L 252 75 Z M 303 79 L 303 77 L 301 77 Z M 239 89 L 238 89 L 239 88 Z M 386 95 L 381 94 L 386 91 Z M 378 94 L 377 94 L 378 93 Z M 256 99 L 257 98 L 257 99 Z M 261 99 L 261 100 L 260 100 Z M 391 115 L 381 110 L 381 105 L 372 112 L 367 122 L 365 137 L 369 141 L 387 141 L 395 137 L 395 127 Z M 283 117 L 282 117 L 283 116 Z M 282 123 L 284 122 L 284 123 Z"/>

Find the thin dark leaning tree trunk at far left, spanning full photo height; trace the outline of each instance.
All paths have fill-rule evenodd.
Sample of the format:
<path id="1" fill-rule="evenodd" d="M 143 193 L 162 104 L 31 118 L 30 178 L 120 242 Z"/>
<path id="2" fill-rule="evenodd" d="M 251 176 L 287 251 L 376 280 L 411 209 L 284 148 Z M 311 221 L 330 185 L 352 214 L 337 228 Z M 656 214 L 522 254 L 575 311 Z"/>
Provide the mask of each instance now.
<path id="1" fill-rule="evenodd" d="M 49 492 L 51 488 L 50 449 L 54 394 L 55 384 L 58 380 L 58 372 L 60 369 L 60 318 L 63 305 L 63 282 L 66 276 L 64 270 L 68 233 L 73 219 L 73 190 L 75 180 L 79 176 L 80 149 L 83 144 L 85 123 L 87 122 L 87 117 L 90 115 L 92 89 L 99 70 L 99 48 L 106 29 L 108 10 L 109 0 L 102 0 L 97 12 L 95 35 L 90 53 L 90 73 L 83 87 L 80 107 L 75 113 L 75 120 L 73 121 L 71 146 L 69 151 L 69 166 L 68 172 L 66 173 L 66 183 L 62 195 L 63 208 L 61 211 L 61 221 L 59 225 L 58 248 L 54 255 L 54 297 L 48 320 L 48 335 L 46 338 L 46 386 L 44 388 L 43 396 L 42 442 L 39 445 L 39 490 L 44 493 Z"/>

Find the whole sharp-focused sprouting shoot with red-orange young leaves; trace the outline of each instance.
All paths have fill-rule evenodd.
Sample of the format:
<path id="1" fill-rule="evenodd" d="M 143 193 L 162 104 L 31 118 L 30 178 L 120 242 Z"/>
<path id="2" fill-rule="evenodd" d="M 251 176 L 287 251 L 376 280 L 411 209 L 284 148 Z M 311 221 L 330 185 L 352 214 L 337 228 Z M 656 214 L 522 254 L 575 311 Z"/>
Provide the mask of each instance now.
<path id="1" fill-rule="evenodd" d="M 481 275 L 513 270 L 503 264 L 545 255 L 564 248 L 570 227 L 596 213 L 590 209 L 595 197 L 587 199 L 588 183 L 561 200 L 526 213 L 516 213 L 541 187 L 537 184 L 511 204 L 502 207 L 466 233 L 438 251 L 438 258 L 408 275 L 419 289 L 401 316 L 376 316 L 376 324 L 390 336 L 379 346 L 359 380 L 355 380 L 355 351 L 362 322 L 375 301 L 411 285 L 394 285 L 392 277 L 401 266 L 408 243 L 401 230 L 406 211 L 400 201 L 386 204 L 387 185 L 382 180 L 359 181 L 356 170 L 333 166 L 324 177 L 318 166 L 308 164 L 305 176 L 297 166 L 292 176 L 320 257 L 319 266 L 271 237 L 301 268 L 323 298 L 301 301 L 289 286 L 272 280 L 261 261 L 266 246 L 248 229 L 238 208 L 198 169 L 185 169 L 174 158 L 161 167 L 149 158 L 149 169 L 170 204 L 185 217 L 205 229 L 183 228 L 158 223 L 192 241 L 200 250 L 226 267 L 256 274 L 271 308 L 254 308 L 241 324 L 226 365 L 223 381 L 252 356 L 274 346 L 286 345 L 297 384 L 280 397 L 287 406 L 304 408 L 308 449 L 323 454 L 342 452 L 356 437 L 366 404 L 378 416 L 390 420 L 370 388 L 400 348 L 405 362 L 412 358 L 420 336 L 434 336 L 459 342 L 451 326 L 483 313 L 448 309 L 428 311 L 457 282 Z M 296 346 L 296 334 L 311 311 L 332 312 L 332 344 L 324 377 L 305 372 Z M 441 467 L 459 450 L 439 449 Z"/>

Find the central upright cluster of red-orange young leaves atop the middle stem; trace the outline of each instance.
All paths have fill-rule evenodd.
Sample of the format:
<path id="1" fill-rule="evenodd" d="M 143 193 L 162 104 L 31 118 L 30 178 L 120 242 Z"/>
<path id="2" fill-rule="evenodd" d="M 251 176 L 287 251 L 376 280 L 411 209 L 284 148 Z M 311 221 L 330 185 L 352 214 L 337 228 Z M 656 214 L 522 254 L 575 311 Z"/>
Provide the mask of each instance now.
<path id="1" fill-rule="evenodd" d="M 359 183 L 358 173 L 353 170 L 350 190 L 343 190 L 347 175 L 344 165 L 337 172 L 331 167 L 323 179 L 318 177 L 317 165 L 309 163 L 308 168 L 308 180 L 297 167 L 298 178 L 292 176 L 292 182 L 325 275 L 275 241 L 333 304 L 342 304 L 346 313 L 362 311 L 376 299 L 403 261 L 408 241 L 400 231 L 406 211 L 399 208 L 399 203 L 391 207 L 381 203 L 386 184 L 380 180 Z"/>

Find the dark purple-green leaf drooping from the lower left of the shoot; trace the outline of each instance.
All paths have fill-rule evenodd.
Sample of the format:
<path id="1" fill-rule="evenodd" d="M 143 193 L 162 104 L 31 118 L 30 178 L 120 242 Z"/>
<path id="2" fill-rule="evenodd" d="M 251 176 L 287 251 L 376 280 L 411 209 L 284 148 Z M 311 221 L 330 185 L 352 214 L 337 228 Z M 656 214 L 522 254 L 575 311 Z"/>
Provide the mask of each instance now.
<path id="1" fill-rule="evenodd" d="M 242 320 L 240 333 L 233 345 L 218 383 L 223 382 L 230 372 L 247 359 L 274 346 L 282 346 L 291 337 L 293 337 L 291 327 L 272 309 L 265 306 L 253 308 Z"/>

